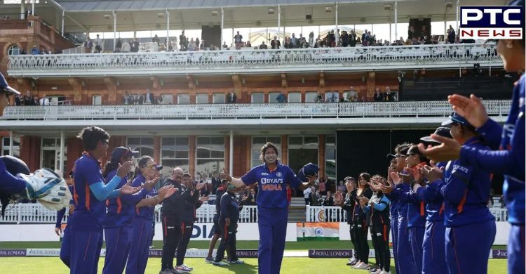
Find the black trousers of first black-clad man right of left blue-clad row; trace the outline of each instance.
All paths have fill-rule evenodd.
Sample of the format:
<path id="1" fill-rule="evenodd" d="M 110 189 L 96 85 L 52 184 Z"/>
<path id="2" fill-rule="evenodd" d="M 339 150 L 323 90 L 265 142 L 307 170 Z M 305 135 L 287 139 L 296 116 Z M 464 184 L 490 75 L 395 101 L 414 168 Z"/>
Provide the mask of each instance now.
<path id="1" fill-rule="evenodd" d="M 173 269 L 175 249 L 177 249 L 181 240 L 181 222 L 163 216 L 163 255 L 161 259 L 161 270 Z"/>

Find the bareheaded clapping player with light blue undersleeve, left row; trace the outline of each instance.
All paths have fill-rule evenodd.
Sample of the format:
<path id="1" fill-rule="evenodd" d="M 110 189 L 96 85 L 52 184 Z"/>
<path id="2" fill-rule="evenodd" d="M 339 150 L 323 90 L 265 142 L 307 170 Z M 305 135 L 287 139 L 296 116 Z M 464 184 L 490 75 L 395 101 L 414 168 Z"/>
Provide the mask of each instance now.
<path id="1" fill-rule="evenodd" d="M 116 175 L 104 184 L 100 162 L 108 150 L 109 134 L 97 126 L 84 128 L 79 133 L 84 151 L 73 167 L 75 211 L 69 218 L 71 233 L 70 273 L 97 273 L 102 247 L 102 221 L 106 213 L 104 201 L 140 190 L 128 183 L 116 188 L 132 167 L 122 164 Z"/>

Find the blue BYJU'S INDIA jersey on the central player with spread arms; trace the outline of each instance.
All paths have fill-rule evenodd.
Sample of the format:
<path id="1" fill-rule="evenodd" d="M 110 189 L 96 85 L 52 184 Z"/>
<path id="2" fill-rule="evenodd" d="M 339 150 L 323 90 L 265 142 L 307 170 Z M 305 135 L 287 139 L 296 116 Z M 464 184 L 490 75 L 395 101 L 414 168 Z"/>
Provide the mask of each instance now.
<path id="1" fill-rule="evenodd" d="M 266 164 L 250 169 L 248 174 L 241 177 L 245 185 L 257 183 L 257 206 L 266 208 L 286 208 L 287 185 L 297 188 L 303 182 L 297 178 L 290 167 L 277 162 L 275 170 L 270 170 Z"/>

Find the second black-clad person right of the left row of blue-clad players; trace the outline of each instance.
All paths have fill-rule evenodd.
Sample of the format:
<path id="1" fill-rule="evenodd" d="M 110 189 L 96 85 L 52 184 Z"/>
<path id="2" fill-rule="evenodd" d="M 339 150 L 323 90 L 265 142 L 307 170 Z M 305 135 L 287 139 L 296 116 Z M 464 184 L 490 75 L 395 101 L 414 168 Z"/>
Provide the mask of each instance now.
<path id="1" fill-rule="evenodd" d="M 176 270 L 191 271 L 193 268 L 184 264 L 184 255 L 187 253 L 188 244 L 190 242 L 191 233 L 194 230 L 194 222 L 196 221 L 196 209 L 201 207 L 203 202 L 199 200 L 199 191 L 194 191 L 194 184 L 191 182 L 190 174 L 183 174 L 182 189 L 192 193 L 191 200 L 187 200 L 184 205 L 184 213 L 182 214 L 181 234 L 182 240 L 177 245 L 177 263 Z"/>

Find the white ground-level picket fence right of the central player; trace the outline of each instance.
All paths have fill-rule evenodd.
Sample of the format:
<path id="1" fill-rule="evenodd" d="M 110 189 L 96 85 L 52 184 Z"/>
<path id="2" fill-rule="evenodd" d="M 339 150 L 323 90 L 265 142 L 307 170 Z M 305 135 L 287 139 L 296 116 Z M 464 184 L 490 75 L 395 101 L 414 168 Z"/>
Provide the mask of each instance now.
<path id="1" fill-rule="evenodd" d="M 491 207 L 495 221 L 508 221 L 508 209 Z M 306 206 L 305 220 L 307 222 L 346 222 L 347 217 L 342 207 Z"/>

